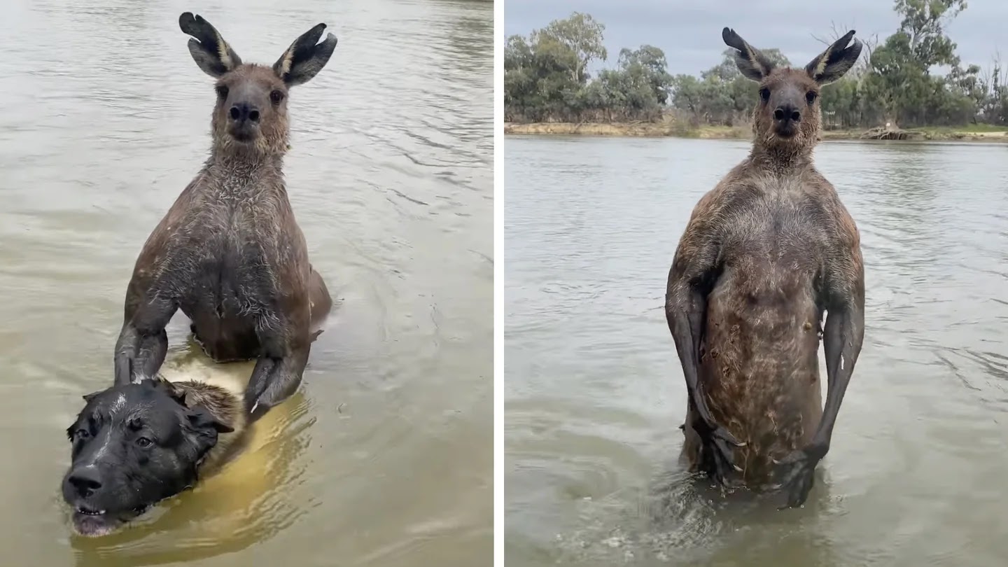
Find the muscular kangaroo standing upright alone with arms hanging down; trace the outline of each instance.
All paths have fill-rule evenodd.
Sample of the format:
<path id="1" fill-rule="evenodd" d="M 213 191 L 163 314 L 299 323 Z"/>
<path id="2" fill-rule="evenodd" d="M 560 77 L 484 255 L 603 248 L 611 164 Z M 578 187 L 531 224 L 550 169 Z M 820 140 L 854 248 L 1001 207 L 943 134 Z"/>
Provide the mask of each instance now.
<path id="1" fill-rule="evenodd" d="M 862 45 L 850 44 L 852 30 L 790 69 L 732 29 L 722 37 L 759 100 L 752 150 L 697 203 L 668 272 L 665 316 L 688 392 L 682 456 L 722 485 L 786 487 L 784 507 L 796 507 L 830 450 L 864 340 L 858 228 L 812 163 L 820 89 Z"/>

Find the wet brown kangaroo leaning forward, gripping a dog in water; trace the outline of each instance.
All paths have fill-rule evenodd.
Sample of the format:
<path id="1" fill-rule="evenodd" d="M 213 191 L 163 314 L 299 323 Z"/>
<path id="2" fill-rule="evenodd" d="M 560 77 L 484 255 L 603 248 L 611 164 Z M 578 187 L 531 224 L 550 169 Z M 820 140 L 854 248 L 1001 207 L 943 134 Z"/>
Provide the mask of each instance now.
<path id="1" fill-rule="evenodd" d="M 177 310 L 219 361 L 256 359 L 244 393 L 254 421 L 301 381 L 311 342 L 332 309 L 308 262 L 283 182 L 287 92 L 311 80 L 336 48 L 320 23 L 272 67 L 242 63 L 203 17 L 181 14 L 197 66 L 217 80 L 213 144 L 203 168 L 144 243 L 126 290 L 115 384 L 157 374 Z"/>

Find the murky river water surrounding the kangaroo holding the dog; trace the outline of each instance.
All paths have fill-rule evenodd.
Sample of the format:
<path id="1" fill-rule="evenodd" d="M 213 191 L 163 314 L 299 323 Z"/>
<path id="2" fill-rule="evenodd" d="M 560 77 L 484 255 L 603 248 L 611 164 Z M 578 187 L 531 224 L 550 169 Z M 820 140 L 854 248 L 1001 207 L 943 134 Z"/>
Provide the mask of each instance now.
<path id="1" fill-rule="evenodd" d="M 180 2 L 11 0 L 0 20 L 0 550 L 21 565 L 478 565 L 492 553 L 493 4 L 227 0 L 246 61 L 319 21 L 290 198 L 341 304 L 254 449 L 139 526 L 71 536 L 81 395 L 111 383 L 143 240 L 209 148 Z M 211 366 L 176 317 L 168 369 Z"/>

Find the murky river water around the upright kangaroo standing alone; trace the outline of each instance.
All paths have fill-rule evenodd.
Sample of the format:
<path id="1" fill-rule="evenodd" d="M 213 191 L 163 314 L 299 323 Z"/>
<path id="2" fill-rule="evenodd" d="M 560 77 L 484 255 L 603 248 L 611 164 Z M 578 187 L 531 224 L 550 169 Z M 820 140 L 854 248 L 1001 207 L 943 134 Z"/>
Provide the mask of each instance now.
<path id="1" fill-rule="evenodd" d="M 506 140 L 508 565 L 1003 565 L 1008 145 L 816 150 L 861 229 L 867 330 L 823 474 L 784 512 L 725 503 L 677 464 L 665 278 L 747 150 Z"/>

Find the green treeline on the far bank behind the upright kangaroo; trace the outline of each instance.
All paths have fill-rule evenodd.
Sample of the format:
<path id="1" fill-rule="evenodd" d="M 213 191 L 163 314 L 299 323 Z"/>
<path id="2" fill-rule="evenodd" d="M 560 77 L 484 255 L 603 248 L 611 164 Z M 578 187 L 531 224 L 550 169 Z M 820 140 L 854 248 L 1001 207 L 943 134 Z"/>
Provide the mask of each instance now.
<path id="1" fill-rule="evenodd" d="M 895 0 L 895 33 L 865 40 L 858 66 L 823 89 L 828 128 L 903 127 L 968 123 L 1008 125 L 1008 70 L 996 53 L 985 69 L 964 66 L 948 22 L 965 0 Z M 621 49 L 615 69 L 588 73 L 606 61 L 605 25 L 575 12 L 528 36 L 512 35 L 504 51 L 505 120 L 509 122 L 656 121 L 674 113 L 694 125 L 736 125 L 749 120 L 755 83 L 742 77 L 727 48 L 720 64 L 700 74 L 671 76 L 665 53 L 653 45 Z M 829 44 L 845 30 L 834 29 Z M 717 36 L 712 41 L 720 40 Z M 790 62 L 763 48 L 778 64 Z M 806 62 L 797 62 L 804 65 Z M 950 71 L 931 75 L 935 68 Z"/>

